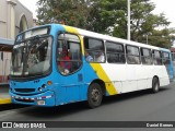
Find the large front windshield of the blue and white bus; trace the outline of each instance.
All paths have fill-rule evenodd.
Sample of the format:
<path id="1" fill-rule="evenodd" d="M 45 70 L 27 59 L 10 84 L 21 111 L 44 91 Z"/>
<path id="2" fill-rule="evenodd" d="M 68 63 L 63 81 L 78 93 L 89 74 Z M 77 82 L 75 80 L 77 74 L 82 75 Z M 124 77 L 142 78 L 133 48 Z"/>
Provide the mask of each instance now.
<path id="1" fill-rule="evenodd" d="M 12 51 L 12 76 L 42 75 L 50 69 L 51 37 L 34 37 L 18 43 Z"/>

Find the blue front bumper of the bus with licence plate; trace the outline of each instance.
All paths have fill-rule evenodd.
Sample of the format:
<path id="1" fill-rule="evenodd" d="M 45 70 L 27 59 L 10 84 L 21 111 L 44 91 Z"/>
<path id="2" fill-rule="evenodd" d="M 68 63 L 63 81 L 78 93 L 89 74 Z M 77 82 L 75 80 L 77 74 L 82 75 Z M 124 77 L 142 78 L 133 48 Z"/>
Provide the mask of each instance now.
<path id="1" fill-rule="evenodd" d="M 16 95 L 10 91 L 10 95 L 13 104 L 35 105 L 44 107 L 56 106 L 55 94 L 51 91 L 31 96 Z"/>

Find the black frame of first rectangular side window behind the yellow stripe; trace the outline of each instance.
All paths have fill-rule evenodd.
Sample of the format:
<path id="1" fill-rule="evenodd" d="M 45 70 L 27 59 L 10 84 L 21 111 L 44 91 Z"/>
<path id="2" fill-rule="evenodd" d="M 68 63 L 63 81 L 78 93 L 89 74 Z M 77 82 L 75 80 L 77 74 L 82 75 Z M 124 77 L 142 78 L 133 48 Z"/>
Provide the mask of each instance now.
<path id="1" fill-rule="evenodd" d="M 85 38 L 102 41 L 103 50 L 86 49 L 86 48 L 85 48 Z M 84 55 L 85 61 L 86 61 L 88 63 L 106 63 L 106 47 L 105 47 L 105 41 L 104 41 L 104 39 L 94 38 L 94 37 L 90 37 L 90 36 L 84 36 L 84 37 L 83 37 L 83 46 L 84 46 L 84 53 L 85 53 L 85 51 L 96 51 L 96 52 L 103 51 L 103 53 L 104 53 L 104 62 L 97 62 L 97 61 L 94 61 L 94 60 L 93 60 L 93 61 L 88 61 L 86 58 L 85 58 L 85 55 Z"/>

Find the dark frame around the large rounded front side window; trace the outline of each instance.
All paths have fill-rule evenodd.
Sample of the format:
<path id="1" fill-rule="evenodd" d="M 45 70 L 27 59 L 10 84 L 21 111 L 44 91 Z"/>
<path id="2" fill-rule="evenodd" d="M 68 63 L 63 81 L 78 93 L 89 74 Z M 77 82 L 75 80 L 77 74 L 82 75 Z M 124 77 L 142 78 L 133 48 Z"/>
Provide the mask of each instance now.
<path id="1" fill-rule="evenodd" d="M 73 72 L 71 72 L 71 73 L 68 73 L 68 74 L 62 74 L 60 71 L 59 71 L 59 68 L 58 68 L 58 64 L 57 64 L 57 47 L 58 47 L 58 40 L 63 40 L 63 39 L 58 39 L 58 37 L 59 37 L 59 35 L 60 34 L 70 34 L 70 35 L 75 35 L 75 36 L 78 36 L 78 38 L 79 38 L 79 40 L 80 40 L 80 51 L 81 51 L 81 60 L 80 60 L 80 63 L 81 63 L 81 66 L 80 66 L 80 68 L 78 69 L 78 70 L 75 70 L 75 71 L 73 71 Z M 74 41 L 75 43 L 75 41 Z M 77 43 L 78 44 L 78 43 Z M 62 75 L 62 76 L 69 76 L 69 75 L 73 75 L 73 74 L 75 74 L 77 72 L 79 72 L 81 69 L 82 69 L 82 67 L 83 67 L 83 53 L 82 53 L 82 44 L 81 44 L 81 38 L 80 38 L 80 36 L 79 36 L 79 34 L 75 34 L 75 33 L 69 33 L 69 32 L 58 32 L 57 33 L 57 36 L 56 36 L 56 49 L 55 49 L 55 53 L 56 53 L 56 60 L 55 60 L 55 66 L 56 66 L 56 70 L 57 70 L 57 72 L 60 74 L 60 75 Z M 70 60 L 70 62 L 74 62 L 73 60 Z"/>

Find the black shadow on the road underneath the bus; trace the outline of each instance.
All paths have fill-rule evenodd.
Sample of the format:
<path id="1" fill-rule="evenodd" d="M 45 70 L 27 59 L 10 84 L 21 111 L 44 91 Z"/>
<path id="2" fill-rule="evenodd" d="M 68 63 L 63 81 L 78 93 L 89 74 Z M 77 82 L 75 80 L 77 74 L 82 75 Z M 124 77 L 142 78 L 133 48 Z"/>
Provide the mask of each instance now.
<path id="1" fill-rule="evenodd" d="M 168 87 L 163 87 L 160 90 L 160 93 L 166 92 L 171 88 Z M 139 92 L 133 92 L 133 93 L 126 93 L 126 94 L 121 94 L 121 95 L 115 95 L 115 96 L 110 96 L 110 97 L 105 97 L 103 99 L 103 105 L 110 105 L 110 104 L 116 104 L 116 102 L 125 102 L 128 99 L 132 99 L 132 98 L 139 98 L 145 95 L 156 95 L 150 92 L 150 90 L 145 90 L 145 91 L 139 91 Z M 102 107 L 98 107 L 102 108 Z M 63 105 L 63 106 L 58 106 L 58 107 L 34 107 L 34 108 L 28 108 L 26 110 L 19 110 L 19 114 L 23 114 L 24 116 L 31 116 L 31 117 L 35 117 L 36 120 L 37 118 L 40 119 L 43 118 L 43 120 L 54 120 L 56 118 L 61 118 L 61 117 L 66 117 L 69 115 L 73 115 L 75 112 L 81 112 L 81 111 L 85 111 L 88 110 L 88 106 L 85 102 L 81 102 L 81 103 L 75 103 L 75 104 L 68 104 L 68 105 Z"/>

